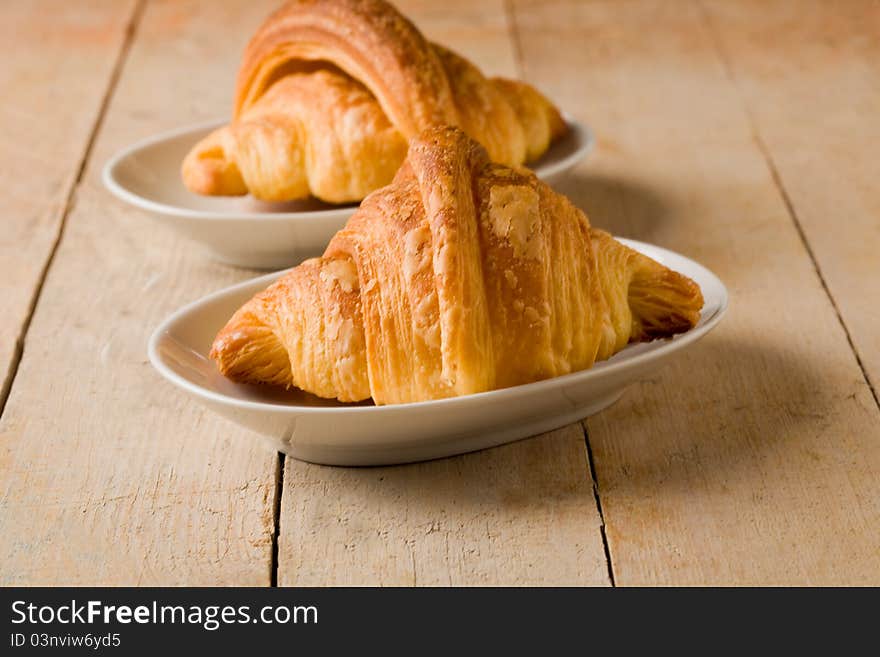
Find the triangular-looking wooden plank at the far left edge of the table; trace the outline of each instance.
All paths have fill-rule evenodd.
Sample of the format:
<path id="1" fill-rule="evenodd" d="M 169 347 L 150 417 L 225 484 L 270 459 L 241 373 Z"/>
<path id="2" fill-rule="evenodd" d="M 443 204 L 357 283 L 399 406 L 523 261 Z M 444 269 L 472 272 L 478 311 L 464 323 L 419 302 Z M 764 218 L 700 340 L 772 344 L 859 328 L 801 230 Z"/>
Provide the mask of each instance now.
<path id="1" fill-rule="evenodd" d="M 133 10 L 106 0 L 0 9 L 0 409 Z"/>

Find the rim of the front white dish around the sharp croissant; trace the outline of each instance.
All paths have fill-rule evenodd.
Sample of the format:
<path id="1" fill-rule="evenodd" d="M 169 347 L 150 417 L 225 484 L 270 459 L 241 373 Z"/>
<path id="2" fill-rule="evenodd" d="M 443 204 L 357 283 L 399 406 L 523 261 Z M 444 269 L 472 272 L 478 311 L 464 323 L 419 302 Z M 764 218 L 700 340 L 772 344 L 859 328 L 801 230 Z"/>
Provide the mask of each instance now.
<path id="1" fill-rule="evenodd" d="M 683 259 L 687 261 L 689 265 L 695 266 L 698 269 L 702 269 L 703 274 L 708 279 L 712 280 L 713 284 L 716 285 L 720 291 L 718 308 L 715 310 L 715 312 L 709 315 L 705 319 L 705 321 L 699 326 L 691 329 L 686 333 L 679 334 L 672 339 L 665 340 L 663 344 L 661 344 L 656 349 L 647 351 L 642 354 L 637 354 L 633 358 L 626 361 L 622 361 L 619 363 L 607 363 L 607 361 L 605 361 L 605 363 L 607 363 L 605 365 L 600 363 L 598 366 L 593 366 L 585 370 L 570 372 L 569 374 L 563 374 L 560 376 L 551 377 L 549 379 L 542 379 L 540 381 L 533 381 L 531 383 L 524 383 L 518 386 L 487 390 L 484 392 L 461 395 L 458 397 L 447 397 L 443 399 L 432 399 L 418 402 L 405 402 L 401 404 L 387 404 L 382 406 L 291 406 L 289 404 L 238 399 L 193 383 L 192 381 L 173 371 L 168 365 L 165 364 L 164 360 L 158 353 L 159 343 L 165 336 L 165 334 L 169 333 L 169 327 L 176 324 L 181 317 L 192 312 L 200 306 L 211 303 L 218 297 L 226 296 L 237 290 L 245 287 L 251 287 L 258 283 L 263 284 L 265 282 L 266 284 L 268 284 L 271 281 L 282 276 L 285 272 L 290 271 L 290 269 L 283 269 L 269 274 L 264 274 L 262 276 L 250 278 L 245 281 L 241 281 L 240 283 L 236 283 L 235 285 L 230 285 L 220 290 L 216 290 L 215 292 L 209 293 L 179 308 L 174 313 L 169 315 L 165 320 L 163 320 L 159 324 L 159 326 L 157 326 L 156 329 L 153 331 L 147 344 L 147 354 L 150 363 L 159 372 L 159 374 L 161 374 L 163 378 L 165 378 L 169 382 L 176 385 L 178 388 L 181 388 L 184 391 L 207 401 L 235 407 L 238 409 L 248 411 L 285 413 L 291 415 L 312 415 L 328 413 L 345 413 L 348 415 L 357 415 L 362 413 L 394 413 L 400 412 L 402 410 L 417 411 L 418 409 L 428 407 L 435 408 L 437 406 L 467 406 L 471 404 L 479 404 L 486 400 L 491 401 L 502 396 L 512 396 L 513 398 L 517 398 L 522 395 L 538 393 L 541 388 L 553 388 L 556 386 L 566 385 L 567 383 L 581 383 L 584 381 L 589 381 L 590 379 L 599 378 L 604 376 L 605 373 L 612 368 L 615 372 L 626 372 L 635 367 L 643 366 L 646 363 L 655 361 L 663 356 L 667 356 L 672 352 L 679 351 L 684 347 L 696 342 L 707 333 L 709 333 L 712 329 L 714 329 L 719 324 L 721 319 L 727 314 L 730 306 L 730 294 L 727 290 L 727 286 L 725 286 L 721 279 L 708 267 L 700 264 L 699 262 L 691 258 L 688 258 L 687 256 L 684 256 L 670 249 L 657 246 L 655 244 L 650 244 L 648 242 L 641 242 L 628 238 L 616 237 L 615 239 L 631 248 L 638 250 L 640 253 L 645 253 L 646 255 L 649 255 L 649 257 L 650 252 L 653 251 L 662 256 L 673 256 L 674 258 Z"/>

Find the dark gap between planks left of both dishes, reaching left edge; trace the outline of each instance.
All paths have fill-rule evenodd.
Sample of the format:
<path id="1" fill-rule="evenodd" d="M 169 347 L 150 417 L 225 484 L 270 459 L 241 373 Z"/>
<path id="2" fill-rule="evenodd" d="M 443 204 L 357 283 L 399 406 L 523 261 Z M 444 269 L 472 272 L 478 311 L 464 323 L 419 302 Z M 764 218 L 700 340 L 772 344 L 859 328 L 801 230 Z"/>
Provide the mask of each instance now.
<path id="1" fill-rule="evenodd" d="M 21 365 L 21 359 L 24 356 L 24 343 L 25 338 L 27 337 L 28 330 L 31 326 L 31 320 L 34 317 L 34 312 L 37 309 L 37 303 L 40 300 L 40 295 L 43 292 L 43 285 L 46 283 L 46 277 L 49 275 L 49 269 L 52 267 L 52 262 L 55 260 L 55 254 L 58 252 L 58 246 L 61 244 L 61 239 L 64 237 L 64 228 L 67 225 L 67 217 L 70 215 L 70 212 L 73 210 L 74 199 L 76 198 L 76 193 L 79 190 L 80 185 L 82 184 L 83 175 L 86 171 L 86 165 L 89 163 L 89 158 L 92 154 L 92 149 L 95 145 L 95 139 L 97 138 L 98 131 L 101 128 L 101 125 L 104 123 L 104 117 L 107 114 L 107 108 L 110 106 L 110 100 L 113 98 L 113 92 L 116 90 L 116 85 L 119 82 L 119 77 L 122 74 L 122 69 L 125 66 L 125 62 L 128 59 L 128 53 L 131 50 L 131 44 L 134 41 L 135 32 L 137 31 L 138 23 L 140 22 L 141 16 L 143 15 L 144 4 L 146 0 L 136 0 L 134 9 L 131 12 L 131 16 L 128 19 L 128 23 L 125 26 L 125 35 L 122 39 L 122 45 L 119 48 L 119 53 L 116 56 L 116 62 L 113 64 L 113 70 L 110 72 L 110 78 L 107 81 L 107 89 L 104 92 L 104 96 L 101 98 L 101 103 L 98 106 L 98 112 L 95 115 L 95 121 L 92 124 L 91 129 L 89 130 L 89 135 L 86 138 L 85 148 L 83 148 L 82 156 L 80 157 L 79 163 L 76 167 L 76 175 L 74 176 L 73 182 L 70 184 L 70 189 L 67 192 L 67 195 L 64 198 L 64 203 L 61 208 L 61 218 L 58 222 L 58 231 L 55 235 L 55 239 L 52 242 L 52 246 L 49 249 L 49 253 L 46 256 L 46 261 L 43 264 L 43 268 L 40 270 L 40 275 L 37 278 L 37 283 L 34 287 L 34 293 L 31 297 L 31 303 L 28 306 L 27 314 L 25 315 L 24 321 L 21 325 L 21 330 L 19 331 L 18 338 L 15 340 L 15 349 L 12 353 L 12 362 L 9 364 L 9 371 L 6 375 L 6 379 L 3 382 L 3 387 L 0 388 L 0 417 L 3 417 L 3 413 L 6 411 L 6 402 L 9 399 L 9 393 L 12 392 L 12 384 L 15 382 L 15 377 L 18 374 L 18 368 Z"/>

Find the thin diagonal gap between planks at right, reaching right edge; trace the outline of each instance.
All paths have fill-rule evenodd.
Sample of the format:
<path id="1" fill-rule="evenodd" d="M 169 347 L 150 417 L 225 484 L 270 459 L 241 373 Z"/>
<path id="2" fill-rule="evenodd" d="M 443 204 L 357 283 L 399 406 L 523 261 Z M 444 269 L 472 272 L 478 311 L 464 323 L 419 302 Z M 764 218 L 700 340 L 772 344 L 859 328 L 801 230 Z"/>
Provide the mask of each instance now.
<path id="1" fill-rule="evenodd" d="M 761 152 L 761 157 L 764 159 L 764 162 L 767 165 L 767 169 L 770 172 L 770 178 L 773 180 L 773 185 L 776 187 L 780 197 L 782 198 L 782 202 L 785 205 L 785 210 L 788 213 L 792 224 L 794 224 L 794 228 L 797 231 L 801 244 L 803 245 L 804 250 L 807 252 L 807 256 L 810 258 L 810 262 L 813 264 L 813 270 L 816 272 L 816 276 L 819 278 L 819 283 L 822 285 L 822 289 L 825 291 L 825 295 L 831 302 L 831 307 L 834 309 L 834 314 L 837 315 L 837 321 L 840 322 L 840 327 L 843 329 L 843 333 L 846 336 L 846 341 L 849 344 L 849 348 L 852 351 L 853 356 L 855 356 L 856 363 L 858 363 L 859 366 L 859 370 L 861 370 L 862 372 L 862 378 L 865 380 L 865 384 L 868 386 L 868 389 L 871 391 L 871 395 L 874 397 L 874 403 L 877 405 L 877 408 L 880 408 L 880 393 L 878 393 L 877 389 L 871 382 L 871 378 L 868 376 L 868 371 L 867 369 L 865 369 L 865 364 L 862 361 L 859 350 L 856 347 L 855 341 L 852 338 L 852 334 L 850 333 L 849 327 L 846 324 L 846 320 L 844 320 L 843 314 L 841 313 L 840 308 L 837 305 L 837 300 L 831 293 L 831 288 L 828 287 L 828 282 L 825 280 L 825 276 L 822 273 L 822 267 L 819 265 L 819 260 L 816 258 L 816 254 L 813 251 L 813 247 L 810 245 L 810 241 L 807 239 L 807 234 L 804 231 L 797 211 L 794 209 L 794 203 L 792 203 L 791 201 L 791 196 L 789 195 L 788 190 L 785 188 L 785 183 L 783 183 L 782 181 L 782 176 L 779 173 L 779 169 L 776 166 L 773 155 L 770 153 L 770 149 L 767 147 L 767 143 L 764 141 L 764 138 L 761 135 L 761 130 L 758 127 L 758 122 L 755 120 L 754 113 L 752 112 L 751 107 L 749 107 L 749 103 L 746 100 L 746 95 L 743 93 L 740 82 L 736 77 L 736 73 L 734 72 L 733 65 L 730 61 L 730 56 L 728 55 L 727 50 L 724 48 L 724 45 L 721 42 L 721 38 L 718 36 L 718 31 L 715 29 L 715 25 L 712 22 L 712 18 L 709 15 L 709 12 L 706 10 L 706 6 L 703 4 L 702 0 L 694 1 L 696 2 L 697 7 L 700 10 L 700 16 L 703 19 L 703 23 L 706 26 L 706 31 L 709 33 L 709 37 L 712 40 L 712 45 L 715 48 L 715 52 L 718 54 L 718 59 L 721 61 L 724 72 L 727 75 L 727 78 L 730 80 L 730 83 L 733 85 L 734 90 L 736 91 L 736 96 L 737 98 L 739 98 L 740 104 L 742 105 L 743 113 L 746 117 L 746 121 L 748 121 L 749 129 L 752 133 L 752 139 L 755 142 L 755 145 L 758 147 L 758 150 Z M 506 2 L 510 2 L 510 0 L 506 0 Z"/>

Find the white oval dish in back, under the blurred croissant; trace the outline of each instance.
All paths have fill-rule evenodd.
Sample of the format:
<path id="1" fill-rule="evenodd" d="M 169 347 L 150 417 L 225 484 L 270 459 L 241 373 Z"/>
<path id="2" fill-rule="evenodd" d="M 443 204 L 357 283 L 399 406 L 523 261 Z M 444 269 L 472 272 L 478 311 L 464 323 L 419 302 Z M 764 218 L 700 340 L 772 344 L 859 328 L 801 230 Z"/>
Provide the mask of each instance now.
<path id="1" fill-rule="evenodd" d="M 120 151 L 104 166 L 104 185 L 230 265 L 279 269 L 320 255 L 357 204 L 264 203 L 250 196 L 200 196 L 184 187 L 180 178 L 184 156 L 223 123 L 181 128 Z M 543 180 L 561 178 L 593 146 L 587 126 L 570 120 L 568 125 L 566 136 L 532 166 Z"/>

